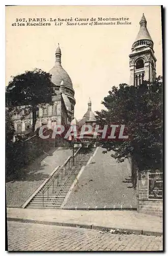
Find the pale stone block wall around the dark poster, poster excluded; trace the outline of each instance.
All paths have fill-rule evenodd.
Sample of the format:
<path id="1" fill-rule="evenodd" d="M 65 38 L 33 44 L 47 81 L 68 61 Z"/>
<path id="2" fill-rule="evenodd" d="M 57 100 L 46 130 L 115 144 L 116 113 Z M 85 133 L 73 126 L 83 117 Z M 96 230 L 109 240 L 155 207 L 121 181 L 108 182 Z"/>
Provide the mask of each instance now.
<path id="1" fill-rule="evenodd" d="M 138 212 L 162 217 L 163 201 L 149 198 L 148 173 L 143 172 L 138 177 Z"/>

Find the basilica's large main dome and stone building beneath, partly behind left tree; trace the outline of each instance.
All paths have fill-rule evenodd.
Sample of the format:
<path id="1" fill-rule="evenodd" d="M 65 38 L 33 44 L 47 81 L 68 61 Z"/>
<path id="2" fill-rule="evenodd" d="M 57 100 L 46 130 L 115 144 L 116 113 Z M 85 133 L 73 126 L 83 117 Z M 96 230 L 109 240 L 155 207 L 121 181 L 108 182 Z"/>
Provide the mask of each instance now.
<path id="1" fill-rule="evenodd" d="M 75 92 L 70 76 L 62 67 L 61 55 L 61 49 L 58 46 L 55 52 L 55 65 L 49 71 L 52 75 L 51 81 L 55 85 L 55 95 L 52 96 L 53 105 L 46 104 L 45 108 L 39 108 L 35 130 L 43 124 L 46 124 L 49 129 L 53 129 L 56 123 L 67 126 L 71 124 L 74 117 Z M 21 120 L 22 115 L 24 110 L 21 114 L 14 116 L 14 127 L 18 135 L 29 133 L 33 123 L 32 113 L 23 120 Z"/>

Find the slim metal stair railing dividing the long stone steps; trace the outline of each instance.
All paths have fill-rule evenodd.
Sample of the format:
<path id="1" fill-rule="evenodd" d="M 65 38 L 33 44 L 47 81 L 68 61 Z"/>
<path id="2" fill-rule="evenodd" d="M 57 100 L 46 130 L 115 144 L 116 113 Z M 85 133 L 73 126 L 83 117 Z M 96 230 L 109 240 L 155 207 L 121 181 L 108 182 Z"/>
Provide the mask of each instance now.
<path id="1" fill-rule="evenodd" d="M 77 163 L 77 161 L 80 159 L 81 155 L 83 154 L 83 152 L 81 151 L 81 148 L 82 147 L 79 147 L 76 153 L 74 154 L 74 161 L 72 156 L 68 157 L 66 162 L 58 170 L 58 173 L 53 175 L 53 177 L 51 177 L 51 181 L 49 182 L 49 184 L 42 190 L 43 207 L 44 207 L 44 194 L 47 193 L 47 201 L 48 201 L 49 189 L 52 187 L 52 193 L 54 193 L 55 182 L 57 182 L 57 187 L 59 187 L 59 182 L 63 180 L 64 172 L 65 172 L 65 175 L 70 174 L 69 171 L 71 170 L 72 166 L 74 166 Z"/>

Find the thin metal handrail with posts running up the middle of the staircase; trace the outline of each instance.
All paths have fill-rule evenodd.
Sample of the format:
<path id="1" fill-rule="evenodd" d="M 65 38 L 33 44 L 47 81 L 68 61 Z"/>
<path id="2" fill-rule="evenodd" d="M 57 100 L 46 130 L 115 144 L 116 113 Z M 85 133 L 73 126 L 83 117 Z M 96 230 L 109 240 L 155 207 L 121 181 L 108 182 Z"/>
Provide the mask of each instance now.
<path id="1" fill-rule="evenodd" d="M 68 159 L 65 161 L 65 163 L 61 166 L 59 172 L 53 176 L 52 180 L 50 181 L 50 183 L 46 186 L 46 188 L 44 188 L 44 190 L 42 191 L 43 194 L 43 207 L 44 207 L 44 193 L 47 191 L 47 198 L 48 198 L 48 189 L 50 188 L 50 186 L 52 185 L 52 190 L 54 190 L 54 182 L 55 180 L 57 180 L 57 186 L 59 186 L 59 176 L 61 174 L 61 180 L 63 179 L 63 171 L 64 171 L 64 167 L 65 167 L 65 175 L 67 175 L 67 164 L 69 163 L 69 168 L 71 169 L 73 164 L 75 164 L 75 161 L 77 163 L 77 156 L 80 157 L 80 150 L 82 147 L 79 147 L 78 150 L 76 151 L 76 153 L 74 154 L 74 163 L 72 162 L 72 156 L 68 157 Z M 71 165 L 71 167 L 70 167 Z"/>

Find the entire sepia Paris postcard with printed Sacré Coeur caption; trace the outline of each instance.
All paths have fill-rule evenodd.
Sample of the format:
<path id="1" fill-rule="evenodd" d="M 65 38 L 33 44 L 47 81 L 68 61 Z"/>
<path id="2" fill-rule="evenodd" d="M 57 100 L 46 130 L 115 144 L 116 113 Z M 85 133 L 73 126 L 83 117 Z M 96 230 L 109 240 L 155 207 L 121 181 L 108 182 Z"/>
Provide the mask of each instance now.
<path id="1" fill-rule="evenodd" d="M 163 250 L 162 15 L 6 6 L 6 250 Z"/>

